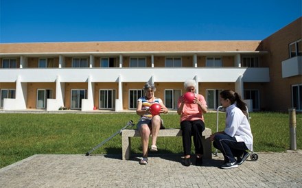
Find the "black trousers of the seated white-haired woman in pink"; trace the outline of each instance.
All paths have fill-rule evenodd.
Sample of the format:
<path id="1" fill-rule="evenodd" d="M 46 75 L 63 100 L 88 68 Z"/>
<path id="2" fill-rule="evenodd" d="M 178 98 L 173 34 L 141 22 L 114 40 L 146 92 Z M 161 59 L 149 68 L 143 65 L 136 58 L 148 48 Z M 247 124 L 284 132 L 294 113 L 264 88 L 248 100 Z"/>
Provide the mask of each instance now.
<path id="1" fill-rule="evenodd" d="M 202 120 L 181 121 L 183 131 L 183 152 L 185 155 L 191 154 L 191 137 L 193 136 L 195 153 L 203 154 L 202 132 L 205 130 L 205 123 Z"/>

